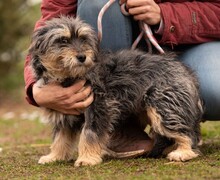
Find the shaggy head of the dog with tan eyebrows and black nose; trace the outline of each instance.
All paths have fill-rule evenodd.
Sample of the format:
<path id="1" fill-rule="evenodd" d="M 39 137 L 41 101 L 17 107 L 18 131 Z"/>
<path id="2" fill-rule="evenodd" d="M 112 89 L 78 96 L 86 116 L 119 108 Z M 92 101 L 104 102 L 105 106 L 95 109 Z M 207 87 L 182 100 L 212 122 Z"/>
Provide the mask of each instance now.
<path id="1" fill-rule="evenodd" d="M 96 61 L 96 32 L 79 18 L 54 18 L 37 29 L 29 54 L 37 79 L 80 78 Z"/>

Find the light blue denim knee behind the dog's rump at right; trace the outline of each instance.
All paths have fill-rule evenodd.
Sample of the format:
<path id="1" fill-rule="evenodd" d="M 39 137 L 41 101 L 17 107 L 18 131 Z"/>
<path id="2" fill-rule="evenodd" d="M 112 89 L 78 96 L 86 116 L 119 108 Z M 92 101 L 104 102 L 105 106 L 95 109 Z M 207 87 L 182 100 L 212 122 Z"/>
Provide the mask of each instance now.
<path id="1" fill-rule="evenodd" d="M 220 42 L 196 45 L 180 59 L 197 74 L 207 120 L 220 120 Z"/>

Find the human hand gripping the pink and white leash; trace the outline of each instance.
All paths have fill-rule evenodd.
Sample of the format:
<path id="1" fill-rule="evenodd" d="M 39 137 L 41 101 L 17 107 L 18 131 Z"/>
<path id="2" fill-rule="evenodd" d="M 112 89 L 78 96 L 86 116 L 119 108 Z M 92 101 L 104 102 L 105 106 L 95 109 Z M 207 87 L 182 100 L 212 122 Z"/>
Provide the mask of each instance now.
<path id="1" fill-rule="evenodd" d="M 121 0 L 119 3 L 126 3 L 128 13 L 137 21 L 148 25 L 157 25 L 161 21 L 161 10 L 154 0 Z"/>

